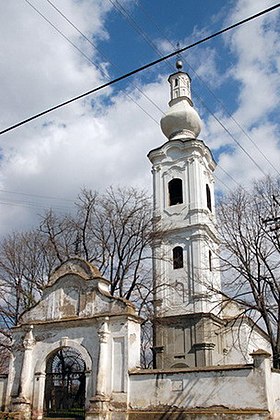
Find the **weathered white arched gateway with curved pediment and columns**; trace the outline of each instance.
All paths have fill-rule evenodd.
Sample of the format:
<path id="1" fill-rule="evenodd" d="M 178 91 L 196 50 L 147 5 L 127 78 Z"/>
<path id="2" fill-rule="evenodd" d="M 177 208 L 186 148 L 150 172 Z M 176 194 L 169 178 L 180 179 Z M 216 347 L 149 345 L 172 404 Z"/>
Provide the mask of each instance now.
<path id="1" fill-rule="evenodd" d="M 94 266 L 73 258 L 23 314 L 13 330 L 8 384 L 19 418 L 92 420 L 127 401 L 126 372 L 140 363 L 141 320 L 109 286 Z"/>

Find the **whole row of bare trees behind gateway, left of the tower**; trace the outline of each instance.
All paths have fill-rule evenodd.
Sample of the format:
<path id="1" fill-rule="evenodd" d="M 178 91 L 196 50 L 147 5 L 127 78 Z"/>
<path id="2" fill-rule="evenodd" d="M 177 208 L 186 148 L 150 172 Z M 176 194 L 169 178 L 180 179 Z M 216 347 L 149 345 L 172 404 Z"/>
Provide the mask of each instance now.
<path id="1" fill-rule="evenodd" d="M 73 256 L 94 264 L 110 280 L 112 295 L 131 300 L 139 315 L 151 319 L 151 241 L 151 204 L 145 192 L 83 189 L 74 214 L 58 216 L 49 210 L 37 230 L 9 235 L 0 244 L 2 328 L 9 335 L 9 328 L 39 299 L 51 271 Z M 148 335 L 145 331 L 143 337 Z M 148 347 L 146 343 L 144 358 Z"/>

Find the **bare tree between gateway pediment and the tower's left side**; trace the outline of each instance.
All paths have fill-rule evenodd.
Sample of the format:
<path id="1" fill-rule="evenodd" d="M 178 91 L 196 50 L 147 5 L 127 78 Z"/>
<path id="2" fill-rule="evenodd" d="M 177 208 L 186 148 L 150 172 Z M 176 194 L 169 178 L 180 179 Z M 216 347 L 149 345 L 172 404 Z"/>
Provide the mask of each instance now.
<path id="1" fill-rule="evenodd" d="M 112 295 L 138 300 L 151 282 L 150 200 L 134 188 L 109 188 L 102 195 L 83 189 L 76 206 L 74 216 L 45 215 L 40 231 L 52 253 L 59 262 L 84 258 L 110 280 Z"/>

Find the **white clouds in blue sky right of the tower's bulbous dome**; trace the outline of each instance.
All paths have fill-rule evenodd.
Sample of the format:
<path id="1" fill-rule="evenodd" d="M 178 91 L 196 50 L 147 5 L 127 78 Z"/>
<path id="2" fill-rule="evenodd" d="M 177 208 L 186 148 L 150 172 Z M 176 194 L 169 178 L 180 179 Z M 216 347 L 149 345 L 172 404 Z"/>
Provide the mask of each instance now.
<path id="1" fill-rule="evenodd" d="M 228 16 L 227 24 L 271 5 L 269 1 L 239 0 Z M 224 37 L 231 57 L 229 77 L 235 93 L 235 108 L 232 111 L 234 120 L 222 108 L 219 119 L 256 162 L 254 164 L 244 154 L 231 136 L 222 132 L 213 117 L 207 118 L 205 131 L 209 145 L 218 156 L 219 165 L 235 180 L 225 178 L 231 188 L 236 182 L 248 185 L 252 179 L 263 177 L 263 173 L 275 175 L 279 166 L 279 119 L 275 118 L 280 92 L 277 18 L 278 11 L 268 13 Z M 222 172 L 219 174 L 221 176 Z"/>

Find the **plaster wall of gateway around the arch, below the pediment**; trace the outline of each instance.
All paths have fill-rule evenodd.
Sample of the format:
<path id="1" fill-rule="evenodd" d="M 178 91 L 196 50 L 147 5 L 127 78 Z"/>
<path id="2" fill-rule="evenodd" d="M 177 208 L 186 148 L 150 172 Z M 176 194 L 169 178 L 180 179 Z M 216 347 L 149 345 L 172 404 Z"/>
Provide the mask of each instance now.
<path id="1" fill-rule="evenodd" d="M 88 320 L 58 321 L 56 323 L 33 325 L 35 340 L 32 349 L 32 359 L 29 364 L 29 377 L 26 398 L 32 399 L 33 388 L 37 376 L 45 374 L 46 360 L 50 354 L 62 347 L 72 347 L 81 353 L 86 362 L 86 371 L 89 373 L 86 399 L 89 400 L 96 392 L 96 375 L 99 357 L 98 328 L 102 317 Z M 127 375 L 129 368 L 140 364 L 140 325 L 127 317 L 111 317 L 108 322 L 108 357 L 106 362 L 106 393 L 125 392 L 127 389 Z M 20 343 L 24 337 L 22 330 L 15 332 L 15 351 L 12 395 L 18 394 L 23 353 Z M 128 346 L 130 351 L 128 351 Z"/>

